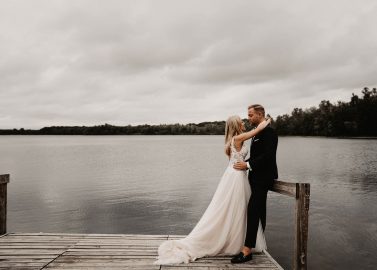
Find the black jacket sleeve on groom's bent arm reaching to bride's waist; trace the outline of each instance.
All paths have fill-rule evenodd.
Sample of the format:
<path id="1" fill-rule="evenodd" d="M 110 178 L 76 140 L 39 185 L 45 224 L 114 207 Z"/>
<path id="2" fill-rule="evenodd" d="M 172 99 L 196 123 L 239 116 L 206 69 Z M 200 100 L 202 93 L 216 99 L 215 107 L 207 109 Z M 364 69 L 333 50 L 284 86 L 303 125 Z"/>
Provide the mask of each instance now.
<path id="1" fill-rule="evenodd" d="M 276 149 L 278 144 L 278 137 L 273 129 L 268 129 L 264 134 L 264 150 L 263 153 L 258 156 L 250 156 L 248 160 L 250 170 L 258 169 L 263 163 L 271 159 L 276 155 Z"/>

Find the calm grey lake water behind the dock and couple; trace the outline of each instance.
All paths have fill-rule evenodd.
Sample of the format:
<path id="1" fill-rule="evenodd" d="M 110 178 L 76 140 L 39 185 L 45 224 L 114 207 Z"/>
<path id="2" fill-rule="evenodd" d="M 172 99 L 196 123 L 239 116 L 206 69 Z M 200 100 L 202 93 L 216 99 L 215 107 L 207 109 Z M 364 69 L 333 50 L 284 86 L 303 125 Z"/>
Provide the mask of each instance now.
<path id="1" fill-rule="evenodd" d="M 227 159 L 222 136 L 0 136 L 8 231 L 188 234 Z M 377 141 L 281 137 L 279 178 L 311 183 L 310 269 L 375 269 Z M 268 197 L 268 250 L 287 269 L 294 200 Z"/>

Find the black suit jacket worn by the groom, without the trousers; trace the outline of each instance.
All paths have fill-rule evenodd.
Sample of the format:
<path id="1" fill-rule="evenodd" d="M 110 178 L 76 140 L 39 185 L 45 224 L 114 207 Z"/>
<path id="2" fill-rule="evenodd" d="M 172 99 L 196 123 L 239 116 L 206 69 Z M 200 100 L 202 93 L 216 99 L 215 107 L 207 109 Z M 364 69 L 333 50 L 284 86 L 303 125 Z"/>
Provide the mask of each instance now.
<path id="1" fill-rule="evenodd" d="M 276 150 L 278 136 L 271 126 L 253 137 L 250 146 L 249 171 L 250 184 L 262 185 L 271 188 L 274 180 L 278 178 L 276 165 Z"/>

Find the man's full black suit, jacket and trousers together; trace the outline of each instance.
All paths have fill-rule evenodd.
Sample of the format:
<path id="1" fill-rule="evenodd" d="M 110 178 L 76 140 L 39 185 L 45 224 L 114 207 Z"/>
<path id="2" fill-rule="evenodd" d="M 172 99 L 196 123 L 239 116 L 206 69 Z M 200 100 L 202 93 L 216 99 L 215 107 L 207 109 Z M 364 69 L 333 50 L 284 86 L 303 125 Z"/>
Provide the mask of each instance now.
<path id="1" fill-rule="evenodd" d="M 251 197 L 247 209 L 247 231 L 245 246 L 254 248 L 257 238 L 259 220 L 263 231 L 266 228 L 266 200 L 268 189 L 278 178 L 276 150 L 278 136 L 270 126 L 266 127 L 251 141 L 249 183 Z"/>

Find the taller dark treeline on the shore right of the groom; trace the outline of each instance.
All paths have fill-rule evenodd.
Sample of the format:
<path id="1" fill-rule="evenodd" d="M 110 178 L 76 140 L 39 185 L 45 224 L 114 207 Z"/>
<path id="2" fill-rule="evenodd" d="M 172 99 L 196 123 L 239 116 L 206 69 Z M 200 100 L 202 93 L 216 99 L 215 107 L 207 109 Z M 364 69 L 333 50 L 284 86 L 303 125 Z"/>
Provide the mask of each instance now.
<path id="1" fill-rule="evenodd" d="M 318 107 L 295 108 L 290 115 L 278 116 L 274 126 L 279 135 L 377 136 L 377 90 L 365 87 L 362 97 L 352 94 L 349 102 Z"/>

